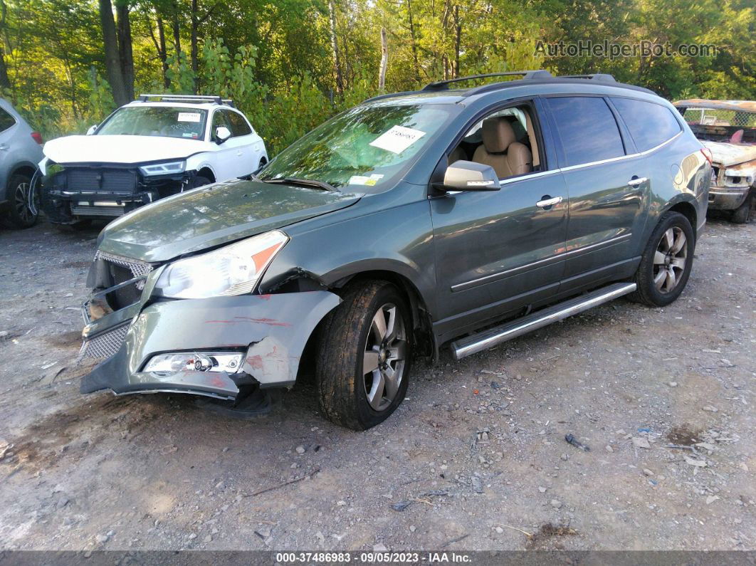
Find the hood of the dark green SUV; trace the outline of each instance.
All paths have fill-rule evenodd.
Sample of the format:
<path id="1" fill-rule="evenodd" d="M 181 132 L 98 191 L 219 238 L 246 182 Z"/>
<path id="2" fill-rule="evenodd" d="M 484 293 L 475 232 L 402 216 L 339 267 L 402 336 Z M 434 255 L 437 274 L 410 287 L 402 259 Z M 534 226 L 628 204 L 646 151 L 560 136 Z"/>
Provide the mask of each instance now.
<path id="1" fill-rule="evenodd" d="M 99 249 L 167 261 L 351 206 L 361 195 L 234 180 L 142 206 L 104 228 Z"/>

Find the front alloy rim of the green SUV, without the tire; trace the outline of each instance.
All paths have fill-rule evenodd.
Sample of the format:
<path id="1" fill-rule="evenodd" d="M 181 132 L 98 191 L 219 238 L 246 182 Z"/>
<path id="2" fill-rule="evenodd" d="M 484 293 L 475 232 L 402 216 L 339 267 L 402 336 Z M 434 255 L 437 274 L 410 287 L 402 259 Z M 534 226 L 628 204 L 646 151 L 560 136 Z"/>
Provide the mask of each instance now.
<path id="1" fill-rule="evenodd" d="M 373 410 L 386 410 L 394 401 L 404 377 L 406 353 L 404 317 L 396 305 L 386 303 L 370 322 L 362 357 L 365 394 Z"/>

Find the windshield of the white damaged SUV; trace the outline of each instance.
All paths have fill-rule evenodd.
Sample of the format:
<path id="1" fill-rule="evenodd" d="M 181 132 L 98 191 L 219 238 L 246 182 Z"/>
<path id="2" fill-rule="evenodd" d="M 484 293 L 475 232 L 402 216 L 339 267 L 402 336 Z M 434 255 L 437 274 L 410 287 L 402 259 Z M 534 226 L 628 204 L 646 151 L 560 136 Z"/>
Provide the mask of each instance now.
<path id="1" fill-rule="evenodd" d="M 135 106 L 116 110 L 96 135 L 153 135 L 201 140 L 207 110 L 186 107 Z"/>

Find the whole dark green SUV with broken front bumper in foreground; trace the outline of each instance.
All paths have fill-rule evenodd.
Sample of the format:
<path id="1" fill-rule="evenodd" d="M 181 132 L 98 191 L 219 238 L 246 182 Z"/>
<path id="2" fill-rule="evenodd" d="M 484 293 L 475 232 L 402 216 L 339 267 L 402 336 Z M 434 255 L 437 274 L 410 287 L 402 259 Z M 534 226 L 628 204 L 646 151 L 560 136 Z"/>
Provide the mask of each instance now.
<path id="1" fill-rule="evenodd" d="M 262 410 L 312 371 L 324 415 L 364 430 L 414 357 L 673 302 L 711 181 L 680 114 L 607 75 L 503 79 L 370 99 L 256 175 L 110 223 L 83 306 L 82 354 L 104 361 L 81 391 Z"/>

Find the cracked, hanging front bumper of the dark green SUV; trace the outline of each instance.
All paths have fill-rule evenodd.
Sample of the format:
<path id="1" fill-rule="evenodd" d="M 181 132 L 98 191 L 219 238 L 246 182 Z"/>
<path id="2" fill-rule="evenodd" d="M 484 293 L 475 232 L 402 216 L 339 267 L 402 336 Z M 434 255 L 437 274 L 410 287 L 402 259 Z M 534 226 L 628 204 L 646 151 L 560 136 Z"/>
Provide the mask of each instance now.
<path id="1" fill-rule="evenodd" d="M 147 277 L 145 296 L 159 271 Z M 85 327 L 82 352 L 115 354 L 82 378 L 81 391 L 167 391 L 234 399 L 244 385 L 293 385 L 309 337 L 339 302 L 338 295 L 314 291 L 129 305 Z M 239 370 L 182 369 L 167 375 L 144 370 L 158 354 L 218 351 L 243 354 Z"/>

